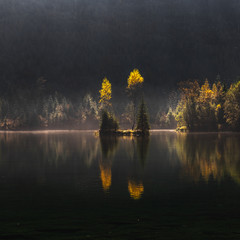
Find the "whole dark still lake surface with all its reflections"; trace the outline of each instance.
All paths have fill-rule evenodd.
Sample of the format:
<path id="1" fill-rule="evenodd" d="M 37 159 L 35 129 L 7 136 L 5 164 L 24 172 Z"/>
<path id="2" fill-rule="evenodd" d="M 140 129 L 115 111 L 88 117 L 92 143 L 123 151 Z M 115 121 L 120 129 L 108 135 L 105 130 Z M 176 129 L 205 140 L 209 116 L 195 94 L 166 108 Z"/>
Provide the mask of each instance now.
<path id="1" fill-rule="evenodd" d="M 240 135 L 0 133 L 0 239 L 240 239 Z"/>

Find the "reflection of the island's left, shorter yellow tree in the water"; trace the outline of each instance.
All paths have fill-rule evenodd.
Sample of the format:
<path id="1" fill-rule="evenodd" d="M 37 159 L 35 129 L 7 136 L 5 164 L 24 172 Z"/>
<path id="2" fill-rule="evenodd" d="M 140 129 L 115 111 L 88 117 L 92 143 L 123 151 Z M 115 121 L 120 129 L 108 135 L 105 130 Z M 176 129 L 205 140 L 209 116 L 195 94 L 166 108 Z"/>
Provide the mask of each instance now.
<path id="1" fill-rule="evenodd" d="M 104 191 L 109 190 L 112 184 L 112 159 L 118 147 L 118 138 L 115 136 L 100 137 L 102 158 L 99 162 L 100 177 Z"/>

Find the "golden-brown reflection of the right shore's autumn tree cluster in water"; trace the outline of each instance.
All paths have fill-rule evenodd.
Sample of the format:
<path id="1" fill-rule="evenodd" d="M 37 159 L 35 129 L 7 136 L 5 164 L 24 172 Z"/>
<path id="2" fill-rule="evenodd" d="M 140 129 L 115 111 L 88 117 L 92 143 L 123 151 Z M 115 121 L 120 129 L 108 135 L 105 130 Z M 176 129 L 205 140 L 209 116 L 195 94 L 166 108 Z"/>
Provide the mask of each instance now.
<path id="1" fill-rule="evenodd" d="M 179 134 L 176 150 L 183 165 L 182 174 L 206 182 L 230 175 L 240 182 L 240 150 L 237 135 Z"/>

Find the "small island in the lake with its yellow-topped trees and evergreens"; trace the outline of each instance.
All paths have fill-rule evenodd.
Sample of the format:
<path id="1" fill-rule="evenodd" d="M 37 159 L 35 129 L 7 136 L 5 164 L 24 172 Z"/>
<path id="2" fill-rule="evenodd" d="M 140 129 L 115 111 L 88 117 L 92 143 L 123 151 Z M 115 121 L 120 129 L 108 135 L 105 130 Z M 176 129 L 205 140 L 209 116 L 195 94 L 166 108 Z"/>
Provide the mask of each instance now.
<path id="1" fill-rule="evenodd" d="M 113 107 L 110 102 L 112 98 L 111 83 L 107 78 L 103 79 L 102 88 L 100 92 L 101 104 L 101 123 L 99 129 L 100 136 L 116 135 L 116 136 L 148 136 L 149 135 L 149 118 L 147 114 L 146 103 L 143 99 L 142 84 L 143 77 L 139 73 L 138 69 L 134 69 L 128 78 L 127 93 L 132 102 L 132 129 L 131 130 L 120 130 L 119 122 L 113 113 Z M 136 114 L 136 105 L 140 94 L 142 95 L 141 103 L 138 107 L 138 114 Z M 136 116 L 137 115 L 137 116 Z M 137 119 L 136 119 L 137 118 Z M 135 128 L 135 121 L 137 125 Z"/>

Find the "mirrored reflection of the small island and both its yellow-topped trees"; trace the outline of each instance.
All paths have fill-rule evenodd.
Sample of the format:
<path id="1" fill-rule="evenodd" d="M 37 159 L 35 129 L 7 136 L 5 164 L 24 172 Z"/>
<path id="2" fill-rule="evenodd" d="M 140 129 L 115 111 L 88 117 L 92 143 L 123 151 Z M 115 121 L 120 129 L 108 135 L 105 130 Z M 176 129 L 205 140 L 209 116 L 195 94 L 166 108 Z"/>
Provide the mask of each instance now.
<path id="1" fill-rule="evenodd" d="M 119 146 L 121 141 L 121 147 Z M 149 137 L 100 137 L 102 157 L 99 160 L 100 178 L 105 192 L 112 184 L 112 165 L 116 154 L 127 157 L 128 188 L 130 197 L 140 199 L 143 192 L 144 166 L 147 160 Z M 119 149 L 120 148 L 120 149 Z M 124 176 L 124 175 L 123 175 Z"/>

